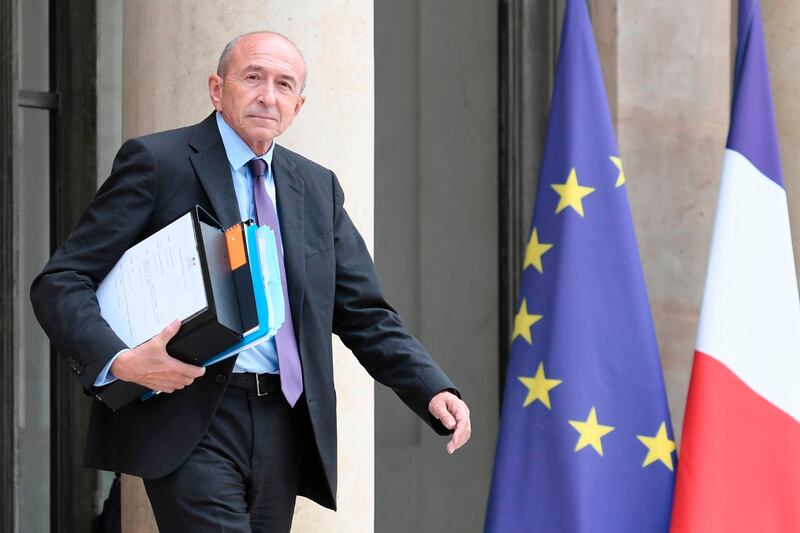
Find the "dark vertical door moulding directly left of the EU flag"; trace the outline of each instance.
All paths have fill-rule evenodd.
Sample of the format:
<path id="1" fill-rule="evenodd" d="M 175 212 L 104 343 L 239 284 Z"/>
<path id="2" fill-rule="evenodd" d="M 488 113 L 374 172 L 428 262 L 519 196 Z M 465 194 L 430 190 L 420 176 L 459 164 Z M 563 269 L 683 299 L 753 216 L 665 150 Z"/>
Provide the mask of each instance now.
<path id="1" fill-rule="evenodd" d="M 502 398 L 565 0 L 503 0 L 499 5 L 498 350 Z"/>

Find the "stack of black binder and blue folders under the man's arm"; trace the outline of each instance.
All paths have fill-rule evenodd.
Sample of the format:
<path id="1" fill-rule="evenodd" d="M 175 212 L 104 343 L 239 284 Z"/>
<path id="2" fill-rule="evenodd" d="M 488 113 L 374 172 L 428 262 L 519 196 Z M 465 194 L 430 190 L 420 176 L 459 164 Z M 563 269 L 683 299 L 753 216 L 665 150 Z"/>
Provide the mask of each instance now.
<path id="1" fill-rule="evenodd" d="M 133 348 L 176 318 L 167 352 L 208 366 L 266 342 L 285 320 L 276 234 L 248 220 L 224 232 L 199 206 L 126 251 L 97 290 L 100 313 Z M 112 409 L 157 391 L 114 381 Z"/>

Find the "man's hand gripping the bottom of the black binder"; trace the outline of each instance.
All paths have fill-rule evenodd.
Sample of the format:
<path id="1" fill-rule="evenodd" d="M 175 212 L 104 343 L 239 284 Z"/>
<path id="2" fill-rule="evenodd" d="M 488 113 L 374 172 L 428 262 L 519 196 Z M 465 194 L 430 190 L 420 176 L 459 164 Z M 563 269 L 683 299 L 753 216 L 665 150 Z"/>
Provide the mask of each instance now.
<path id="1" fill-rule="evenodd" d="M 181 321 L 175 320 L 149 341 L 120 354 L 111 365 L 111 373 L 123 381 L 161 392 L 174 392 L 191 385 L 206 373 L 206 369 L 179 361 L 167 353 L 167 343 L 180 327 Z"/>

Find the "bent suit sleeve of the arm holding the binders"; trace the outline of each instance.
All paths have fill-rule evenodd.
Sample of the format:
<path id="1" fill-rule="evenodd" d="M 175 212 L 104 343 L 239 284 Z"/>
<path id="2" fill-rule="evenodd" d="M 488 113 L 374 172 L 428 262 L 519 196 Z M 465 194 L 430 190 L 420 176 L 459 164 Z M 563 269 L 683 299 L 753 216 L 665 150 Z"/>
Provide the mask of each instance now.
<path id="1" fill-rule="evenodd" d="M 126 142 L 111 176 L 31 286 L 36 318 L 87 390 L 110 359 L 127 348 L 100 316 L 95 291 L 150 222 L 155 166 L 141 141 Z"/>

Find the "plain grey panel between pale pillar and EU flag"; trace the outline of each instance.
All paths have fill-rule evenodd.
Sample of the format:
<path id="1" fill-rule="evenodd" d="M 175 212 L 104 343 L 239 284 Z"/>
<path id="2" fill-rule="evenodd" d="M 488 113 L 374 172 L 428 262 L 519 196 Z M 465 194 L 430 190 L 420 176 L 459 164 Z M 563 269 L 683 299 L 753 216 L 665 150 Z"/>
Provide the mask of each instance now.
<path id="1" fill-rule="evenodd" d="M 446 439 L 376 387 L 381 533 L 477 531 L 486 512 L 499 413 L 497 13 L 486 0 L 375 3 L 378 271 L 480 426 L 448 456 Z"/>

